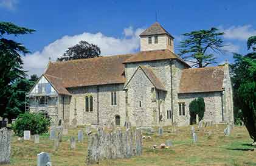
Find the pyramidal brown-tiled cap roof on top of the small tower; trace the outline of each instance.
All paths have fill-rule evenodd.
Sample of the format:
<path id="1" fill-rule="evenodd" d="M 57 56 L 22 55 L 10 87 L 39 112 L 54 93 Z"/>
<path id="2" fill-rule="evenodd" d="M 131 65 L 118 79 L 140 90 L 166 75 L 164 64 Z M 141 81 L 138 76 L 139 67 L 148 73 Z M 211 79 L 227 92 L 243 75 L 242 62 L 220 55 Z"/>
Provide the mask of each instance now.
<path id="1" fill-rule="evenodd" d="M 154 22 L 154 24 L 152 24 L 148 29 L 144 30 L 144 32 L 142 32 L 140 34 L 140 36 L 148 36 L 148 35 L 163 35 L 163 34 L 167 34 L 169 36 L 170 33 L 168 33 L 160 24 L 159 22 Z M 171 36 L 173 38 L 173 36 Z"/>

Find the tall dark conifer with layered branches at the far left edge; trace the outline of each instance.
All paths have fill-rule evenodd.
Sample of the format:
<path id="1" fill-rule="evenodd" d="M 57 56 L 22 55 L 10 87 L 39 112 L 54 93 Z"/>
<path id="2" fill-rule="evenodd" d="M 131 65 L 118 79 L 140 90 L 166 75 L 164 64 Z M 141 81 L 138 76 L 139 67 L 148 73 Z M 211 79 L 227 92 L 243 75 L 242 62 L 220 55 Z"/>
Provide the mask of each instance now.
<path id="1" fill-rule="evenodd" d="M 21 43 L 4 38 L 6 35 L 24 35 L 35 30 L 19 27 L 11 22 L 0 22 L 0 116 L 7 117 L 7 105 L 12 95 L 12 86 L 18 79 L 26 77 L 22 67 L 20 54 L 27 54 L 29 50 Z"/>

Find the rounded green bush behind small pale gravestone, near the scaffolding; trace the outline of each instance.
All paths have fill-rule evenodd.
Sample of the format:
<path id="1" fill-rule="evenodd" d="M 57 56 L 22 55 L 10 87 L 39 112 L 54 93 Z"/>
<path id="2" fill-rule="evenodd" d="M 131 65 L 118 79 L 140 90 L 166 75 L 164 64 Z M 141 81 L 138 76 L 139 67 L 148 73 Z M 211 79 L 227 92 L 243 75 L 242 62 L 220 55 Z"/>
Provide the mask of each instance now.
<path id="1" fill-rule="evenodd" d="M 17 136 L 22 137 L 24 130 L 29 130 L 33 134 L 43 134 L 48 131 L 50 119 L 46 119 L 42 114 L 25 112 L 20 114 L 12 125 L 13 131 Z"/>

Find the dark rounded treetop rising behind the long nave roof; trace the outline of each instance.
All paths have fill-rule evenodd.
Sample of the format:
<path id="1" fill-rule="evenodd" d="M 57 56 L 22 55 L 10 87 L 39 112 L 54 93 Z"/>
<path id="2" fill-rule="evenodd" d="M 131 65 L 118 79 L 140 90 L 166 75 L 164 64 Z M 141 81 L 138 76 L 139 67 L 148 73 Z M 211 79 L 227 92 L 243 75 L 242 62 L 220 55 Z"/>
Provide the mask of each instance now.
<path id="1" fill-rule="evenodd" d="M 85 58 L 99 57 L 100 48 L 94 44 L 89 44 L 87 41 L 79 41 L 73 47 L 69 47 L 66 52 L 57 59 L 57 61 L 78 60 Z"/>

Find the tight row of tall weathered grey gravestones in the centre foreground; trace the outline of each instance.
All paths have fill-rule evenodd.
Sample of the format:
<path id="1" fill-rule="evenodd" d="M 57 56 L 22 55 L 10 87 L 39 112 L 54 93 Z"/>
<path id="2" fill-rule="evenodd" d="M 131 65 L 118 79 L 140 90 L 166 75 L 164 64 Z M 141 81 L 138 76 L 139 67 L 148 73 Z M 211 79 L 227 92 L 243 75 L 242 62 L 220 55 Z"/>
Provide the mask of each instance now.
<path id="1" fill-rule="evenodd" d="M 102 159 L 130 158 L 142 154 L 141 130 L 131 129 L 107 133 L 99 128 L 96 134 L 89 136 L 88 164 L 99 163 Z"/>

